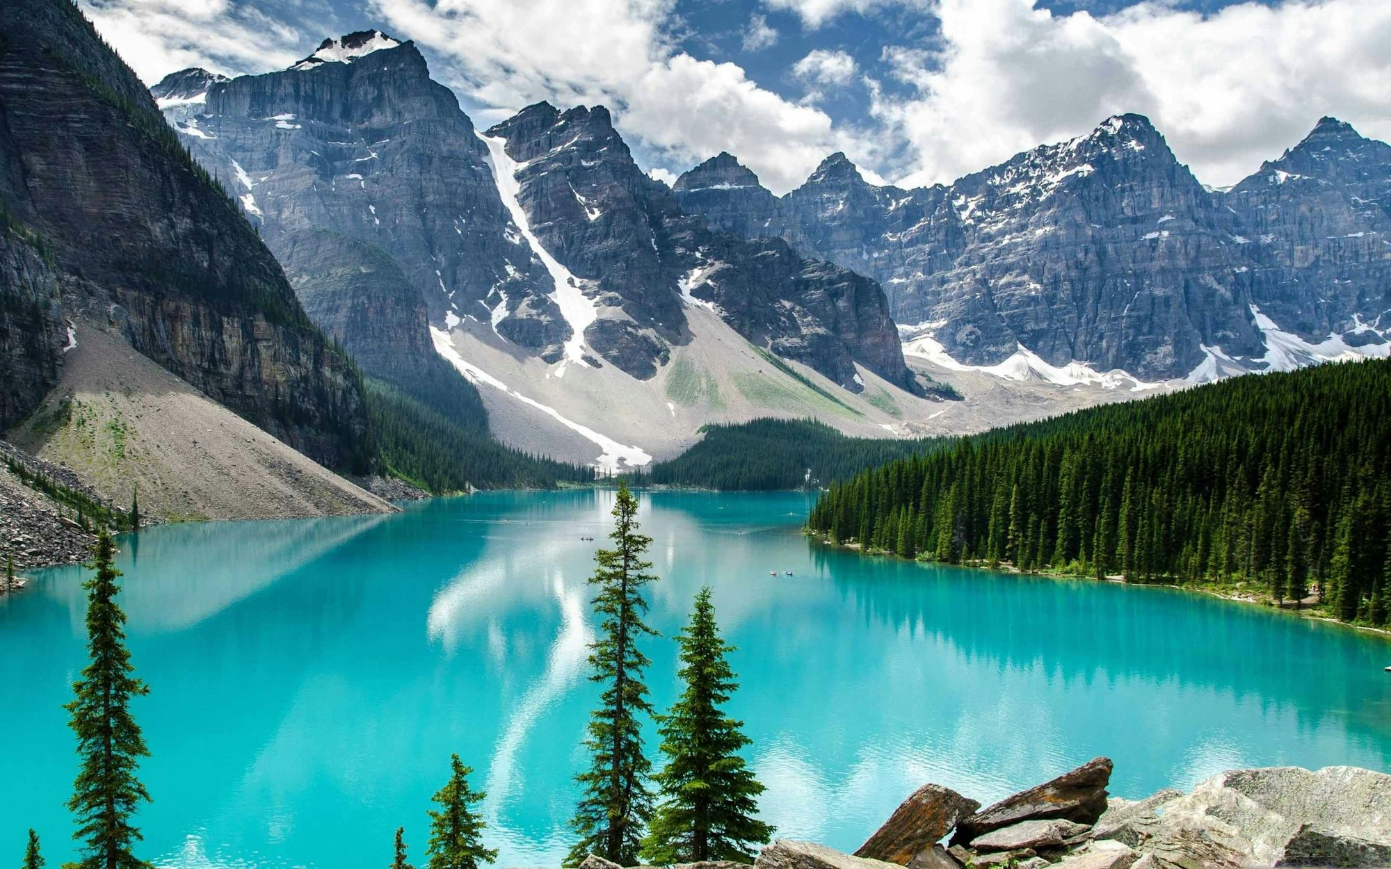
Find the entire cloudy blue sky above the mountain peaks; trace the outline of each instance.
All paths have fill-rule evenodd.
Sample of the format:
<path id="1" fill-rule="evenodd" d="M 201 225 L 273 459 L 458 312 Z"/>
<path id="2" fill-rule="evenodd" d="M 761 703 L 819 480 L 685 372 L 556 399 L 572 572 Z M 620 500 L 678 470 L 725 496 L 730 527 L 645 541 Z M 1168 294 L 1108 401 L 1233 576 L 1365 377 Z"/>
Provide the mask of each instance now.
<path id="1" fill-rule="evenodd" d="M 775 193 L 837 150 L 876 184 L 949 184 L 1124 111 L 1214 186 L 1323 115 L 1391 139 L 1391 0 L 79 3 L 146 83 L 376 28 L 415 40 L 479 127 L 605 104 L 654 177 L 726 150 Z"/>

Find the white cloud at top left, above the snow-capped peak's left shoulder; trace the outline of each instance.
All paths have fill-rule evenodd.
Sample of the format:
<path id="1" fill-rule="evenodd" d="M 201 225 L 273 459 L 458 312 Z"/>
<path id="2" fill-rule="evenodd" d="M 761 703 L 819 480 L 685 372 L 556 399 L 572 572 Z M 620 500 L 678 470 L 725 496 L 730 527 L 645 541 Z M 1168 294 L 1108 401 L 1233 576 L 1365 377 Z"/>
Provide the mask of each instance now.
<path id="1" fill-rule="evenodd" d="M 262 72 L 305 54 L 295 22 L 236 0 L 82 0 L 82 11 L 147 85 L 186 67 Z M 323 3 L 292 11 L 312 15 L 319 26 L 332 21 Z"/>

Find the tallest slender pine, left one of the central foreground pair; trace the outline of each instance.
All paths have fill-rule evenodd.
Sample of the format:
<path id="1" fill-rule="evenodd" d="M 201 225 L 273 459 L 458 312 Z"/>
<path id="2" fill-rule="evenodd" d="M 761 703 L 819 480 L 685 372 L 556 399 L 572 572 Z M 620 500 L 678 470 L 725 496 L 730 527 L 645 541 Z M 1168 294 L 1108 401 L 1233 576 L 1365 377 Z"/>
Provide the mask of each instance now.
<path id="1" fill-rule="evenodd" d="M 600 708 L 590 716 L 584 747 L 591 765 L 576 776 L 584 797 L 576 806 L 570 826 L 580 834 L 566 858 L 577 866 L 588 854 L 622 866 L 637 862 L 643 827 L 652 813 L 652 795 L 647 790 L 651 762 L 643 755 L 640 715 L 652 715 L 647 699 L 643 670 L 650 660 L 637 648 L 643 635 L 657 631 L 643 623 L 647 599 L 643 585 L 657 577 L 643 555 L 652 538 L 637 533 L 637 499 L 619 484 L 613 505 L 615 527 L 609 534 L 613 549 L 600 549 L 591 585 L 598 585 L 594 612 L 604 617 L 601 638 L 590 645 L 590 681 L 605 685 Z"/>

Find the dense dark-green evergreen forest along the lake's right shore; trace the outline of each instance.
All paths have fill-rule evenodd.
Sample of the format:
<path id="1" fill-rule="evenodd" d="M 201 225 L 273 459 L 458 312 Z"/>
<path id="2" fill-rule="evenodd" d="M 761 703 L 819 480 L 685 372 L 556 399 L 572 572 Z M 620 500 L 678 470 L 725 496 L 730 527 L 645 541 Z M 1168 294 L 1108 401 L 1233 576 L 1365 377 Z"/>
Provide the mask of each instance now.
<path id="1" fill-rule="evenodd" d="M 889 462 L 807 527 L 867 552 L 1310 594 L 1391 622 L 1391 360 L 1241 377 Z"/>

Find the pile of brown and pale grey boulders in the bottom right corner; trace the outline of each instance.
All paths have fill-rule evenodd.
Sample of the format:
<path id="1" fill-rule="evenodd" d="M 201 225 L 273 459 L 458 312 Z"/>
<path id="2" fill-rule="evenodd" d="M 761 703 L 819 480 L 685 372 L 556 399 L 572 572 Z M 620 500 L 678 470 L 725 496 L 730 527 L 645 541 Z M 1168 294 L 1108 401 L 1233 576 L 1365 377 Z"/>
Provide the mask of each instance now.
<path id="1" fill-rule="evenodd" d="M 965 799 L 926 786 L 871 843 L 893 841 L 894 856 L 918 847 L 907 861 L 912 869 L 1370 868 L 1391 862 L 1391 776 L 1384 773 L 1349 766 L 1245 769 L 1213 776 L 1188 794 L 1170 788 L 1134 801 L 1107 798 L 1110 773 L 1111 762 L 1096 758 L 961 818 L 950 848 L 936 838 L 893 840 L 886 834 L 903 829 L 915 799 L 921 805 L 960 805 Z M 935 811 L 922 815 L 942 816 Z M 928 823 L 921 830 L 931 836 L 940 825 Z M 843 869 L 850 868 L 843 861 L 854 859 L 821 851 L 817 856 L 821 866 Z"/>

